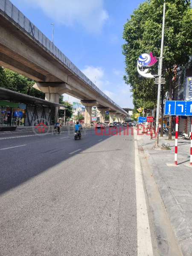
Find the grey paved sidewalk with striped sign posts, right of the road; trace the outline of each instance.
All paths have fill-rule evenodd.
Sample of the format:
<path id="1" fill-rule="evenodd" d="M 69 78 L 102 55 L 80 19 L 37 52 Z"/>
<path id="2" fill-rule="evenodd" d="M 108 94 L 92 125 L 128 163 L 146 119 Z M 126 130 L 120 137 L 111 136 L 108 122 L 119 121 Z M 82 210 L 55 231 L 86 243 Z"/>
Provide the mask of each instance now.
<path id="1" fill-rule="evenodd" d="M 137 135 L 157 183 L 163 204 L 184 256 L 192 256 L 192 167 L 190 140 L 178 138 L 178 166 L 175 163 L 175 140 L 159 138 L 159 145 L 170 143 L 171 150 L 154 150 L 150 136 Z M 175 137 L 173 137 L 175 139 Z M 168 165 L 167 165 L 168 164 Z"/>

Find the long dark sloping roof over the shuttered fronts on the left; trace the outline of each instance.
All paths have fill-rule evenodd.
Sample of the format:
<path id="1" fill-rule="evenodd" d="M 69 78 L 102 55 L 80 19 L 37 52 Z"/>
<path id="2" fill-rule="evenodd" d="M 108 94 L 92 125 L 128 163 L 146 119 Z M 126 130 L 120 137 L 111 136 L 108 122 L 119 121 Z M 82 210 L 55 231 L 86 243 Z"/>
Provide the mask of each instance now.
<path id="1" fill-rule="evenodd" d="M 52 107 L 66 107 L 66 105 L 58 104 L 55 102 L 50 102 L 45 99 L 35 98 L 23 93 L 17 93 L 12 90 L 8 90 L 0 87 L 0 99 L 7 100 L 10 102 L 17 102 L 23 104 L 31 105 L 41 105 L 41 106 L 52 106 Z"/>

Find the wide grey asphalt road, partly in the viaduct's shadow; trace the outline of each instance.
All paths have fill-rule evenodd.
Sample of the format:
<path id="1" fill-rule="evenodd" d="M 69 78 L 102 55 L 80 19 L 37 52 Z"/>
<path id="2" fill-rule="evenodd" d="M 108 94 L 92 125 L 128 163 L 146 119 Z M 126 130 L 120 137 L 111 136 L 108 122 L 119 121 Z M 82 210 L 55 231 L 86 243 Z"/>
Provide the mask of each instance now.
<path id="1" fill-rule="evenodd" d="M 137 256 L 134 154 L 131 134 L 0 133 L 0 255 Z"/>

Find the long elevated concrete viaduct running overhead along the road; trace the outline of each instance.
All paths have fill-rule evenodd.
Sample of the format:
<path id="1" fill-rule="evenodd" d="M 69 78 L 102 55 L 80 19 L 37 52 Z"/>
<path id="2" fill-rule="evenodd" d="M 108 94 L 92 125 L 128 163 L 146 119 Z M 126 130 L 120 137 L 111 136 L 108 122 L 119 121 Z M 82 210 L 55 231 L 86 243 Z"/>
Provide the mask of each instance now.
<path id="1" fill-rule="evenodd" d="M 34 87 L 46 93 L 49 101 L 58 103 L 63 93 L 82 100 L 86 122 L 91 101 L 97 107 L 127 116 L 9 0 L 0 0 L 0 65 L 34 79 Z"/>

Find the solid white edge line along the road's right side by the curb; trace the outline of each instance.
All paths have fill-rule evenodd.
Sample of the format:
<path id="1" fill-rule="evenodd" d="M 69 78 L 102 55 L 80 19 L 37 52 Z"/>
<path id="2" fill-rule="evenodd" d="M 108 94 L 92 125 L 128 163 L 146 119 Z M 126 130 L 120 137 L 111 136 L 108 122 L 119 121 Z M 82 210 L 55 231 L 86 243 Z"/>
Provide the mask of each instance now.
<path id="1" fill-rule="evenodd" d="M 143 189 L 139 151 L 135 140 L 135 183 L 137 199 L 137 255 L 153 256 L 151 233 L 148 222 L 147 205 Z"/>

